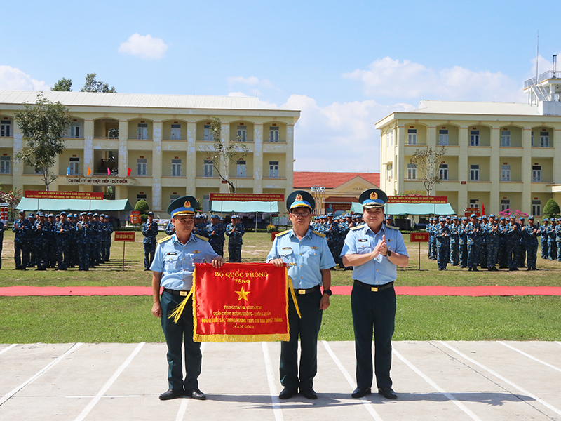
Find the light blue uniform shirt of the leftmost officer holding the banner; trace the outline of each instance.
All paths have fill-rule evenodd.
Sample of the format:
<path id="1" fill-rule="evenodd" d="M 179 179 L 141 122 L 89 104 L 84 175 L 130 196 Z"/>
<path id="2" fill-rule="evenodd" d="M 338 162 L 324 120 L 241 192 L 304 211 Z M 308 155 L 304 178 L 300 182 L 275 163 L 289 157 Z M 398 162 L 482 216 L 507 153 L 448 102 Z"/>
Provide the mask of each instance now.
<path id="1" fill-rule="evenodd" d="M 217 254 L 208 240 L 191 233 L 184 245 L 173 234 L 171 239 L 158 243 L 151 271 L 161 272 L 160 286 L 173 290 L 190 290 L 193 285 L 195 263 L 210 263 Z"/>

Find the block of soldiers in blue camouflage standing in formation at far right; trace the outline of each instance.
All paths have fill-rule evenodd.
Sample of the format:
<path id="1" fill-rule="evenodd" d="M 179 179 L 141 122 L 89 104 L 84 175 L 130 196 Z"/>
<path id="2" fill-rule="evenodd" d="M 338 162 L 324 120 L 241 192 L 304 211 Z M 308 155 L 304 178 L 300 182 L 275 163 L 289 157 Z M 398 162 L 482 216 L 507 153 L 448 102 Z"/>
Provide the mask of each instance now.
<path id="1" fill-rule="evenodd" d="M 478 218 L 472 214 L 469 222 L 466 216 L 461 220 L 457 216 L 440 217 L 438 221 L 430 218 L 426 230 L 429 233 L 428 258 L 437 260 L 438 270 L 446 270 L 448 263 L 467 267 L 469 271 L 477 271 L 478 266 L 496 271 L 496 265 L 511 271 L 520 267 L 538 270 L 538 237 L 542 237 L 542 258 L 546 258 L 543 255 L 544 236 L 546 243 L 550 238 L 553 243 L 556 241 L 555 229 L 535 225 L 533 216 L 528 218 L 527 224 L 524 218 L 517 222 L 514 215 L 510 218 L 501 216 L 497 220 L 495 215 Z M 557 238 L 561 242 L 561 227 Z"/>

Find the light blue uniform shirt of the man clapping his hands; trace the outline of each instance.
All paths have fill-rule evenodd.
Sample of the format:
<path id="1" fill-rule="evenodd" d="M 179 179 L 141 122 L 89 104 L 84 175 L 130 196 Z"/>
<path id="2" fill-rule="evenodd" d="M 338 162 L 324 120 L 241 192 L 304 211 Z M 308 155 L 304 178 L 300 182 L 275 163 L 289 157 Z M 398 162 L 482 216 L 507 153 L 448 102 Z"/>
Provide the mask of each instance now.
<path id="1" fill-rule="evenodd" d="M 407 248 L 399 229 L 387 227 L 384 224 L 381 225 L 378 234 L 374 234 L 372 229 L 366 224 L 360 225 L 357 229 L 351 229 L 346 234 L 341 256 L 370 253 L 381 243 L 383 235 L 386 236 L 388 250 L 391 250 L 392 253 L 395 252 L 408 256 Z M 377 258 L 369 260 L 362 265 L 353 266 L 353 279 L 369 285 L 384 285 L 384 283 L 395 281 L 397 276 L 396 265 L 383 255 L 378 255 Z"/>

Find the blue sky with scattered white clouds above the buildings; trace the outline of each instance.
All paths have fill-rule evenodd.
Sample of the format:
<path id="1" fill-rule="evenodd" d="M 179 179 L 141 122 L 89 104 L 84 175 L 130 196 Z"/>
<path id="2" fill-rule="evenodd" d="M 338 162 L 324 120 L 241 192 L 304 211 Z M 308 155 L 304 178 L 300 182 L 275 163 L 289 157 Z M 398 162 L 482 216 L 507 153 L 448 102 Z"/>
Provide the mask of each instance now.
<path id="1" fill-rule="evenodd" d="M 12 1 L 0 89 L 84 76 L 122 93 L 259 96 L 302 110 L 296 171 L 379 171 L 374 123 L 420 99 L 524 102 L 559 51 L 527 1 Z M 548 23 L 550 22 L 550 23 Z"/>

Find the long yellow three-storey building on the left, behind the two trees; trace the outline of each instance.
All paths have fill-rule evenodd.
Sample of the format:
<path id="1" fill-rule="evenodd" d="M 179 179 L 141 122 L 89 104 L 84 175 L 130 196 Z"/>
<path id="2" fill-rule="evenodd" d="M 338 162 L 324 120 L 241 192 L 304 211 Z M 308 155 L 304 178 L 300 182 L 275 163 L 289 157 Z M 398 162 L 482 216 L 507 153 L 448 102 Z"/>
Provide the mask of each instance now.
<path id="1" fill-rule="evenodd" d="M 229 192 L 205 152 L 212 145 L 210 123 L 218 117 L 222 140 L 239 138 L 250 151 L 243 160 L 223 168 L 236 192 L 288 195 L 292 191 L 299 111 L 264 107 L 250 97 L 44 95 L 68 107 L 73 119 L 64 135 L 67 149 L 55 164 L 58 178 L 51 190 L 104 192 L 107 198 L 129 199 L 133 205 L 145 199 L 154 211 L 165 211 L 170 201 L 192 194 L 203 200 L 208 211 L 211 192 Z M 14 161 L 25 147 L 14 112 L 35 99 L 33 91 L 0 91 L 0 184 L 5 187 L 44 189 L 41 175 Z"/>

